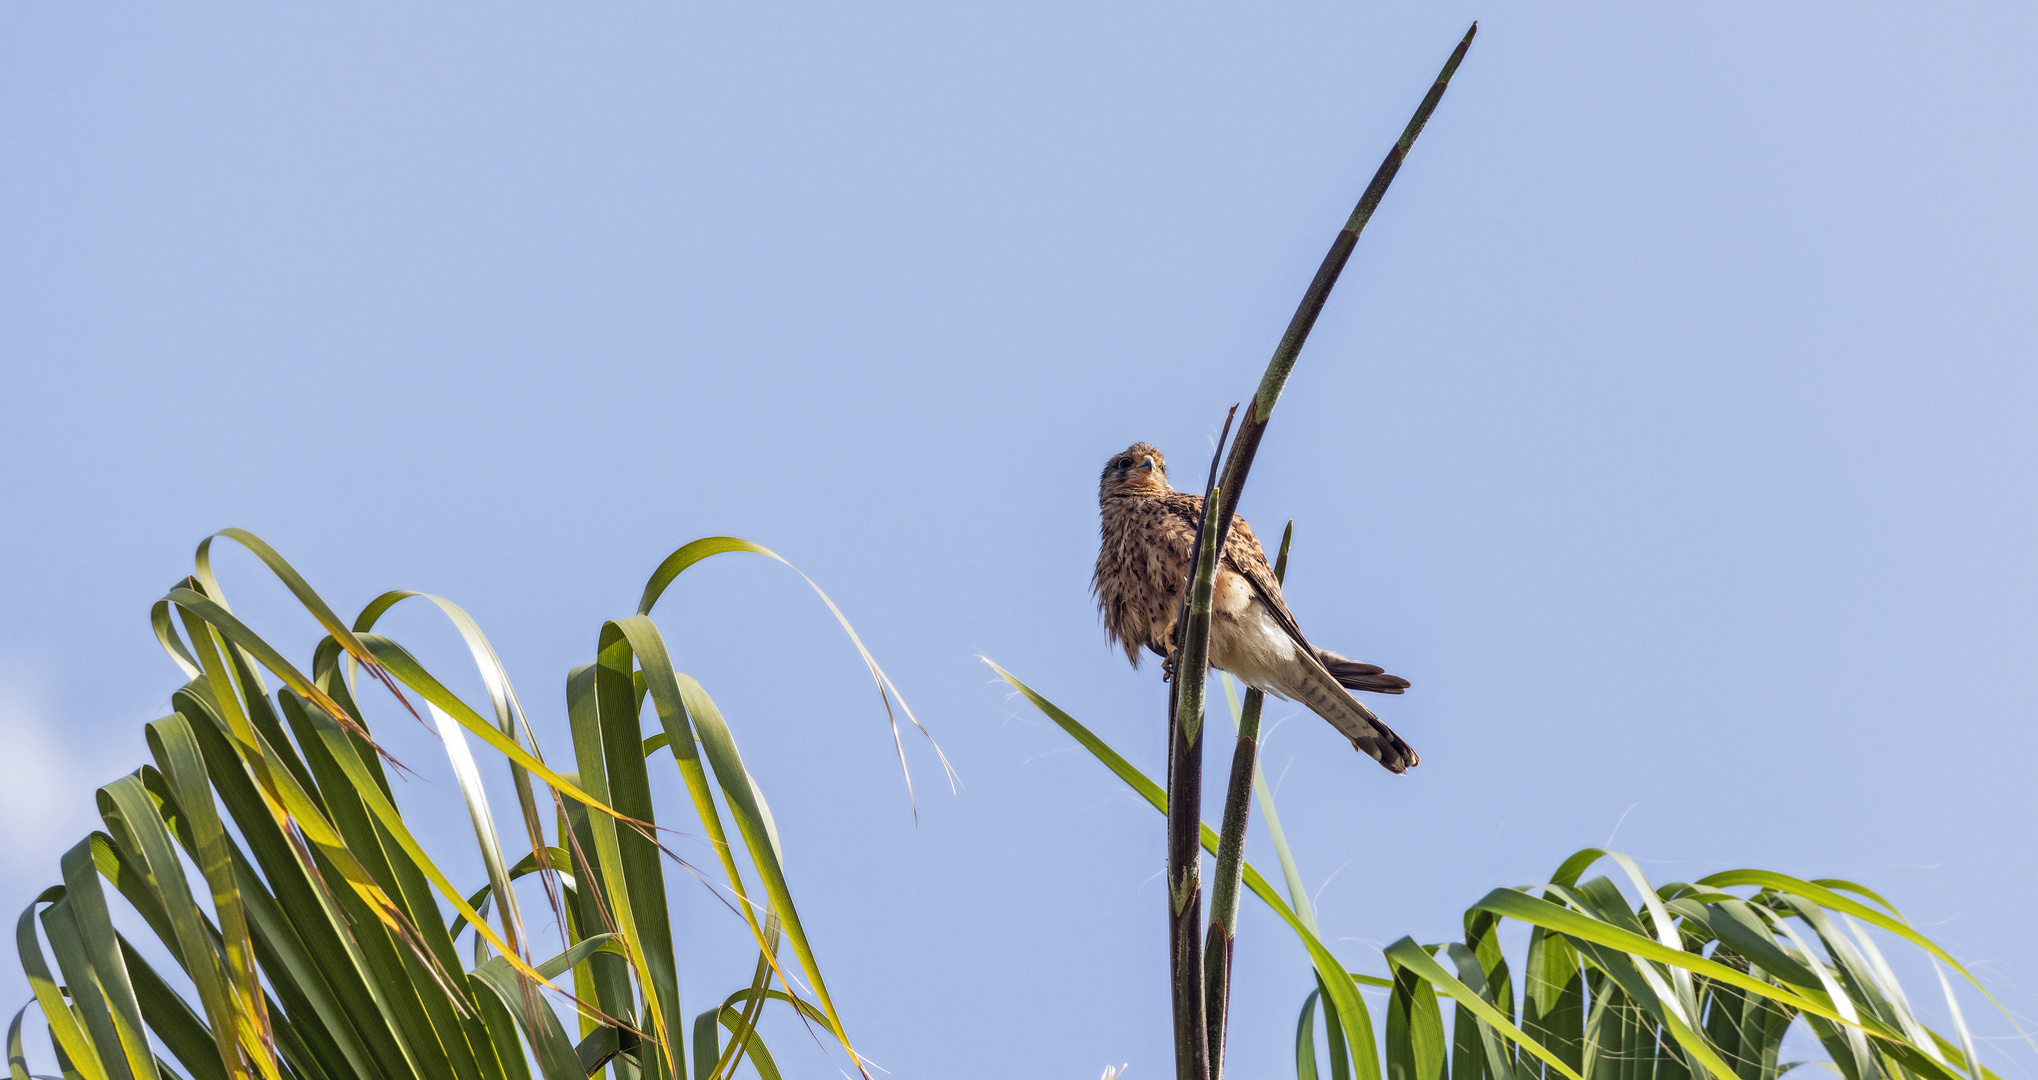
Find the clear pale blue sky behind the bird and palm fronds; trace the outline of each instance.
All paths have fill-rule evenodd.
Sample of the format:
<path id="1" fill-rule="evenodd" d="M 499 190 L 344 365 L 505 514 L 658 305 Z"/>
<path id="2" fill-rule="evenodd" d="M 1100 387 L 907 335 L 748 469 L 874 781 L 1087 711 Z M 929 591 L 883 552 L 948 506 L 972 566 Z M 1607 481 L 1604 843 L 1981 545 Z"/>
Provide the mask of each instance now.
<path id="1" fill-rule="evenodd" d="M 467 605 L 554 754 L 601 619 L 738 534 L 968 785 L 909 746 L 915 825 L 785 569 L 660 605 L 864 1051 L 1166 1074 L 1160 817 L 976 654 L 1162 768 L 1156 668 L 1086 595 L 1096 471 L 1204 458 L 1471 18 L 1243 503 L 1296 522 L 1312 638 L 1414 681 L 1402 778 L 1270 713 L 1325 933 L 1370 970 L 1610 840 L 1869 882 L 2032 1013 L 2022 4 L 8 6 L 0 907 L 145 760 L 177 685 L 147 607 L 208 532 L 342 609 Z M 385 626 L 463 668 L 426 611 Z M 748 960 L 673 888 L 719 996 Z M 1239 956 L 1233 1056 L 1278 1076 L 1304 960 L 1259 911 Z"/>

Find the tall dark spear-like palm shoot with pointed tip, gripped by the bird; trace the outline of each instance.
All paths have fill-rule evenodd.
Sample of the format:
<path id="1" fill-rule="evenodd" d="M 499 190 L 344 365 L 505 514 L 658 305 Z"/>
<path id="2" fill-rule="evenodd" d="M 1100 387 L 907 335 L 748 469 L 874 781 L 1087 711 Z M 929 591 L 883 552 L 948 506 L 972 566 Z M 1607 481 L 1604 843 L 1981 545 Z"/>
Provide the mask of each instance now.
<path id="1" fill-rule="evenodd" d="M 1253 393 L 1253 403 L 1249 410 L 1245 410 L 1245 422 L 1239 426 L 1239 436 L 1231 442 L 1231 454 L 1225 461 L 1225 475 L 1209 495 L 1217 503 L 1215 507 L 1211 507 L 1211 514 L 1204 516 L 1204 528 L 1211 528 L 1215 524 L 1217 532 L 1211 544 L 1213 550 L 1219 552 L 1225 550 L 1225 542 L 1229 540 L 1231 534 L 1231 518 L 1237 514 L 1239 495 L 1245 493 L 1245 477 L 1247 473 L 1251 473 L 1253 454 L 1259 452 L 1259 438 L 1266 434 L 1268 422 L 1274 416 L 1274 403 L 1280 401 L 1282 389 L 1288 385 L 1288 375 L 1294 373 L 1294 361 L 1296 357 L 1302 355 L 1302 344 L 1308 340 L 1310 328 L 1317 326 L 1317 316 L 1323 314 L 1323 304 L 1331 298 L 1331 287 L 1337 285 L 1337 277 L 1345 271 L 1345 261 L 1351 259 L 1351 251 L 1359 242 L 1359 232 L 1363 232 L 1365 222 L 1374 218 L 1374 210 L 1380 206 L 1382 196 L 1388 194 L 1388 185 L 1394 183 L 1394 175 L 1400 173 L 1402 161 L 1408 159 L 1408 151 L 1414 147 L 1416 137 L 1423 134 L 1423 124 L 1427 124 L 1431 112 L 1437 110 L 1437 102 L 1443 100 L 1443 92 L 1451 86 L 1451 75 L 1457 73 L 1457 65 L 1463 63 L 1465 51 L 1471 49 L 1471 37 L 1478 33 L 1480 24 L 1473 22 L 1471 29 L 1465 31 L 1463 41 L 1457 43 L 1457 49 L 1451 51 L 1451 59 L 1443 63 L 1443 71 L 1437 73 L 1437 82 L 1431 84 L 1429 94 L 1423 96 L 1423 104 L 1416 106 L 1414 116 L 1408 120 L 1408 126 L 1402 128 L 1400 139 L 1394 141 L 1394 145 L 1388 149 L 1386 159 L 1380 163 L 1380 169 L 1374 171 L 1374 179 L 1372 183 L 1365 185 L 1365 194 L 1359 196 L 1359 204 L 1351 210 L 1351 216 L 1345 218 L 1345 228 L 1341 228 L 1337 232 L 1337 238 L 1331 240 L 1331 251 L 1323 257 L 1323 265 L 1317 267 L 1317 277 L 1310 279 L 1308 289 L 1302 293 L 1302 304 L 1296 306 L 1294 318 L 1288 320 L 1288 332 L 1282 334 L 1280 344 L 1274 346 L 1274 357 L 1268 361 L 1268 369 L 1259 377 L 1259 389 Z M 1209 503 L 1204 505 L 1209 507 Z M 1198 542 L 1200 540 L 1202 534 L 1198 532 Z M 1200 560 L 1196 569 L 1200 575 L 1202 571 Z M 1196 642 L 1192 634 L 1190 640 L 1182 644 L 1202 644 L 1206 648 L 1209 617 L 1204 617 L 1202 632 L 1204 632 L 1202 642 Z M 1198 703 L 1196 721 L 1200 723 L 1202 666 L 1178 664 L 1176 670 L 1178 695 L 1190 693 L 1188 691 L 1190 679 L 1198 681 L 1194 695 Z M 1200 732 L 1194 734 L 1200 736 Z M 1196 750 L 1198 750 L 1196 778 L 1200 780 L 1202 778 L 1200 742 Z M 1223 1011 L 1225 1005 L 1231 1001 L 1231 939 L 1235 933 L 1231 921 L 1237 915 L 1237 888 L 1239 888 L 1239 874 L 1243 872 L 1241 870 L 1243 856 L 1239 852 L 1243 852 L 1245 821 L 1251 813 L 1249 811 L 1251 762 L 1247 760 L 1245 766 L 1241 768 L 1239 758 L 1251 758 L 1255 752 L 1257 752 L 1257 730 L 1253 732 L 1253 740 L 1247 742 L 1241 719 L 1241 736 L 1237 750 L 1233 752 L 1231 787 L 1225 797 L 1225 815 L 1221 821 L 1223 831 L 1219 833 L 1219 880 L 1215 886 L 1217 893 L 1213 893 L 1213 917 L 1221 917 L 1223 923 L 1215 919 L 1211 923 L 1211 954 L 1209 954 L 1213 958 L 1211 970 L 1196 972 L 1211 978 L 1211 984 L 1200 1003 L 1200 1009 L 1215 1019 L 1215 1023 L 1206 1025 L 1211 1035 L 1211 1043 L 1206 1049 L 1211 1080 L 1219 1080 L 1225 1072 Z M 1170 782 L 1170 789 L 1180 789 L 1180 782 Z M 1170 811 L 1172 809 L 1174 803 L 1170 803 Z M 1229 870 L 1225 868 L 1223 862 L 1227 846 L 1239 850 L 1233 852 Z M 1170 813 L 1170 854 L 1172 852 L 1174 852 L 1174 813 Z M 1174 874 L 1174 864 L 1170 862 L 1170 882 L 1174 880 L 1172 874 Z M 1217 907 L 1219 897 L 1229 897 L 1231 905 L 1229 911 L 1221 911 Z M 1176 960 L 1180 962 L 1180 956 Z M 1180 982 L 1182 982 L 1180 968 L 1176 970 L 1176 982 L 1180 994 Z M 1180 1023 L 1176 1027 L 1176 1035 L 1180 1041 Z"/>

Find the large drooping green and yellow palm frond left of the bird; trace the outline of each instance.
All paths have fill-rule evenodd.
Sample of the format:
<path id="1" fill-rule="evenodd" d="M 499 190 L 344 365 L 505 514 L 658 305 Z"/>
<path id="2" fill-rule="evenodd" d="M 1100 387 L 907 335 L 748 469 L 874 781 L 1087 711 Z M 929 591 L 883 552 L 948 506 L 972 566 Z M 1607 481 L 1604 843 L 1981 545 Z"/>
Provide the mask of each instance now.
<path id="1" fill-rule="evenodd" d="M 601 626 L 595 660 L 567 679 L 575 768 L 560 772 L 544 762 L 509 674 L 459 605 L 426 597 L 461 632 L 493 719 L 375 634 L 381 615 L 422 593 L 383 593 L 346 624 L 261 538 L 218 536 L 275 573 L 326 638 L 300 668 L 234 615 L 212 566 L 214 538 L 200 546 L 196 573 L 153 605 L 151 626 L 190 683 L 173 695 L 175 711 L 147 727 L 151 764 L 100 789 L 106 829 L 63 856 L 63 884 L 16 921 L 31 1009 L 49 1025 L 65 1080 L 581 1080 L 603 1068 L 615 1080 L 719 1080 L 738 1062 L 776 1078 L 758 1031 L 768 1003 L 825 1031 L 862 1070 L 793 903 L 762 787 L 728 719 L 675 670 L 648 617 L 658 593 L 707 554 L 776 554 L 736 538 L 689 544 L 652 577 L 638 613 Z M 891 709 L 891 679 L 821 599 Z M 487 870 L 479 890 L 454 886 L 397 807 L 395 762 L 361 705 L 363 672 L 440 738 Z M 660 727 L 650 740 L 646 697 Z M 509 766 L 518 840 L 528 846 L 520 858 L 489 809 L 477 744 Z M 683 813 L 709 838 L 713 872 L 679 862 L 660 840 L 650 797 L 658 750 L 679 768 Z M 185 860 L 202 880 L 185 874 Z M 726 897 L 732 929 L 742 925 L 758 948 L 748 986 L 695 1021 L 691 1058 L 666 862 Z M 514 890 L 532 874 L 567 943 L 546 960 L 530 954 Z M 190 996 L 114 931 L 104 884 L 147 923 Z M 469 929 L 475 941 L 463 958 L 454 941 Z M 776 960 L 781 941 L 795 970 Z M 577 1033 L 554 1003 L 577 1015 Z M 33 1076 L 24 1017 L 8 1029 L 14 1080 Z M 728 1049 L 717 1027 L 734 1035 Z"/>

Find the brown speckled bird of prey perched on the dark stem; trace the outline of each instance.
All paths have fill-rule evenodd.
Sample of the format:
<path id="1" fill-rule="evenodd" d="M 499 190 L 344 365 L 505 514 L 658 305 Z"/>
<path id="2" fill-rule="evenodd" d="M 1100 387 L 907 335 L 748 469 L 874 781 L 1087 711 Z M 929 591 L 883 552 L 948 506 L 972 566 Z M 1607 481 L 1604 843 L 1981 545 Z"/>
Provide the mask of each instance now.
<path id="1" fill-rule="evenodd" d="M 1147 648 L 1174 662 L 1176 613 L 1196 556 L 1202 495 L 1168 483 L 1168 458 L 1149 442 L 1111 454 L 1096 485 L 1103 514 L 1096 577 L 1090 593 L 1111 644 L 1139 666 Z M 1408 681 L 1317 648 L 1282 599 L 1280 579 L 1245 518 L 1231 518 L 1225 558 L 1211 593 L 1211 666 L 1274 697 L 1300 701 L 1331 721 L 1361 754 L 1390 772 L 1423 758 L 1386 723 L 1345 693 L 1402 693 Z"/>

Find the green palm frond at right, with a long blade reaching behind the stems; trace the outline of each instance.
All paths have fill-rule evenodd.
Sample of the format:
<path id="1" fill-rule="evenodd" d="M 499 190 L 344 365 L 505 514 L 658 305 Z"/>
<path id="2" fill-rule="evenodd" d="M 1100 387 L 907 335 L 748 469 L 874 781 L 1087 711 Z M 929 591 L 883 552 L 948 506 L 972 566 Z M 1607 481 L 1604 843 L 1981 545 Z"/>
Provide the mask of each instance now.
<path id="1" fill-rule="evenodd" d="M 1005 668 L 990 668 L 1166 811 L 1160 785 L 1105 740 Z M 1264 785 L 1257 797 L 1274 821 Z M 1202 838 L 1215 854 L 1217 833 L 1204 825 Z M 1300 901 L 1286 840 L 1278 854 Z M 1612 862 L 1620 880 L 1581 880 L 1600 862 Z M 1798 1023 L 1846 1080 L 1995 1080 L 1975 1060 L 1956 1005 L 1950 1039 L 1918 1019 L 1863 923 L 1918 948 L 1983 994 L 1987 988 L 1855 882 L 1726 870 L 1659 886 L 1628 856 L 1586 848 L 1543 884 L 1482 897 L 1465 911 L 1459 941 L 1390 943 L 1380 978 L 1345 970 L 1312 919 L 1298 915 L 1300 905 L 1286 903 L 1251 862 L 1241 860 L 1241 868 L 1247 890 L 1288 923 L 1315 968 L 1296 1019 L 1300 1080 L 1779 1080 L 1793 1068 L 1781 1049 Z M 1518 990 L 1500 948 L 1506 921 L 1528 929 Z M 1359 986 L 1388 990 L 1378 1039 Z M 1443 1001 L 1451 1003 L 1449 1027 Z M 1317 1043 L 1319 1011 L 1327 1062 Z"/>

